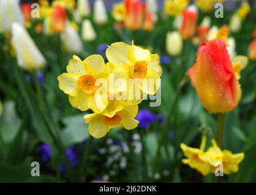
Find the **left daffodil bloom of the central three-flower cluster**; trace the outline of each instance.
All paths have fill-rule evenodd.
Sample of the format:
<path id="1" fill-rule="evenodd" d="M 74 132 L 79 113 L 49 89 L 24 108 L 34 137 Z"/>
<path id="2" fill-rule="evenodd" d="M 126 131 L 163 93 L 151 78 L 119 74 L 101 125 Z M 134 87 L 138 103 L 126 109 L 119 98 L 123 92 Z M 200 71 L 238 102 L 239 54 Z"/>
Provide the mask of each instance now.
<path id="1" fill-rule="evenodd" d="M 99 81 L 108 79 L 107 66 L 100 55 L 91 55 L 83 61 L 73 55 L 67 65 L 67 73 L 58 76 L 59 88 L 69 95 L 73 107 L 81 111 L 91 109 L 95 113 L 105 110 L 108 105 L 107 88 Z"/>

